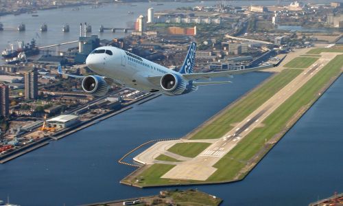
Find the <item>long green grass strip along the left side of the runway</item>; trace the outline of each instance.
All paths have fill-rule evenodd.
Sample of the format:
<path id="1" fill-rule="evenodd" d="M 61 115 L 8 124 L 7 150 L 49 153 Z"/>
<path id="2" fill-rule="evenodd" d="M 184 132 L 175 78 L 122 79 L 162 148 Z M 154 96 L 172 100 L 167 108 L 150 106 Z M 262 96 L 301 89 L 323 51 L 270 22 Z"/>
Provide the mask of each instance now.
<path id="1" fill-rule="evenodd" d="M 241 122 L 255 111 L 276 92 L 285 87 L 301 73 L 300 69 L 284 69 L 281 73 L 270 78 L 245 98 L 241 98 L 229 109 L 215 117 L 215 120 L 193 134 L 190 139 L 217 139 L 228 133 L 237 122 Z"/>

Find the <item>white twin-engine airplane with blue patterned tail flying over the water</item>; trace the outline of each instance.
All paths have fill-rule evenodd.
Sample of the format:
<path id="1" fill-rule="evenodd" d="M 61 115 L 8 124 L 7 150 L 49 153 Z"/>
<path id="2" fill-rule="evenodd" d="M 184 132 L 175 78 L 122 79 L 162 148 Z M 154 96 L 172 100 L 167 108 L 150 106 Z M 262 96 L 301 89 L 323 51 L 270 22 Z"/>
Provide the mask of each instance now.
<path id="1" fill-rule="evenodd" d="M 102 76 L 75 76 L 63 73 L 60 65 L 58 66 L 58 73 L 70 76 L 71 78 L 82 79 L 82 89 L 86 93 L 95 96 L 106 95 L 111 83 L 147 93 L 182 95 L 196 91 L 199 86 L 230 83 L 230 81 L 198 82 L 198 80 L 209 80 L 214 77 L 232 76 L 234 74 L 277 67 L 284 58 L 275 65 L 263 65 L 250 69 L 193 73 L 196 60 L 196 43 L 194 42 L 189 46 L 180 71 L 168 69 L 123 49 L 105 46 L 94 49 L 86 58 L 87 67 Z"/>

